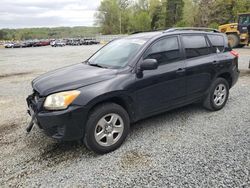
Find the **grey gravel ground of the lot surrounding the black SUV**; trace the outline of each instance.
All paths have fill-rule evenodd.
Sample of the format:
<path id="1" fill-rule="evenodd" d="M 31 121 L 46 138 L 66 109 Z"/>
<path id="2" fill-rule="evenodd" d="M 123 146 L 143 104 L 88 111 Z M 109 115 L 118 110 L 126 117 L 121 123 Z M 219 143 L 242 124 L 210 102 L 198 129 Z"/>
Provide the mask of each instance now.
<path id="1" fill-rule="evenodd" d="M 0 187 L 250 187 L 250 48 L 237 50 L 242 74 L 219 112 L 194 104 L 140 121 L 106 155 L 27 135 L 31 80 L 99 47 L 0 49 Z"/>

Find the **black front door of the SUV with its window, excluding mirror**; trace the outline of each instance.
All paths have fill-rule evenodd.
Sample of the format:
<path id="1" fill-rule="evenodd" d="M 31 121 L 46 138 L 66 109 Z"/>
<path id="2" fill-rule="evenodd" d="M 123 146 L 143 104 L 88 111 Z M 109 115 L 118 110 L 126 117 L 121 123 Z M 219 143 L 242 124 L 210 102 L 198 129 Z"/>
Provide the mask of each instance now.
<path id="1" fill-rule="evenodd" d="M 156 59 L 156 70 L 136 78 L 136 101 L 142 117 L 181 103 L 186 96 L 185 63 L 178 36 L 161 38 L 144 53 L 141 61 Z"/>

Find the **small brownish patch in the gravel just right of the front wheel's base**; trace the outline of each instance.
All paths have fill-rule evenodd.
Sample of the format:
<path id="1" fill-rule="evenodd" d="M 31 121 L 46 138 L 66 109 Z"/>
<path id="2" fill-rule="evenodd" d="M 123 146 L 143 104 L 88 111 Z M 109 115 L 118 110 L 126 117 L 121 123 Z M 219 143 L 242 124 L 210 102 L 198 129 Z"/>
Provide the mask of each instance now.
<path id="1" fill-rule="evenodd" d="M 147 167 L 150 163 L 150 155 L 137 150 L 127 151 L 121 157 L 121 167 L 123 169 Z"/>

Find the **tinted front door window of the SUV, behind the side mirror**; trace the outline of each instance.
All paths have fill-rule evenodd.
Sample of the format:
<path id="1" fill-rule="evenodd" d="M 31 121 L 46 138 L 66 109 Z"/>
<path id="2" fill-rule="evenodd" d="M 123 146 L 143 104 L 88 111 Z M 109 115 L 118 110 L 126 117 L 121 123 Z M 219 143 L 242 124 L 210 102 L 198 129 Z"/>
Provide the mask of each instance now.
<path id="1" fill-rule="evenodd" d="M 159 64 L 177 61 L 181 58 L 177 37 L 161 39 L 147 51 L 144 59 L 156 59 Z"/>

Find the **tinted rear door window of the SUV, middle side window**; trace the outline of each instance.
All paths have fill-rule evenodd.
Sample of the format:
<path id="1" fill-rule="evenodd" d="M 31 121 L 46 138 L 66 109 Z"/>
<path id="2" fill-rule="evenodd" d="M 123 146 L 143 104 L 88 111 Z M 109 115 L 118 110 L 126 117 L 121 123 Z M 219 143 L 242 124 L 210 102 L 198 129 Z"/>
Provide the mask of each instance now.
<path id="1" fill-rule="evenodd" d="M 186 58 L 194 58 L 210 54 L 206 38 L 202 35 L 182 36 Z"/>

